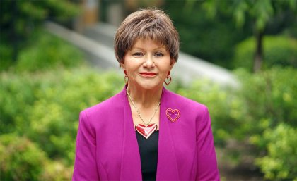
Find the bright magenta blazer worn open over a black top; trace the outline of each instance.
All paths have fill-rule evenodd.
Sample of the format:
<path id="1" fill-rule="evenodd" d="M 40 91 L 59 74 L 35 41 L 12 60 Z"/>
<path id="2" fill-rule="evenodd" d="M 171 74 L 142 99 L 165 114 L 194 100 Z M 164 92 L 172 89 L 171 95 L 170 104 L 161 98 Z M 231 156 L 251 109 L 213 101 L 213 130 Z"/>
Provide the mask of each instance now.
<path id="1" fill-rule="evenodd" d="M 139 147 L 125 88 L 81 111 L 72 180 L 142 180 Z M 171 122 L 166 109 L 177 108 Z M 206 106 L 163 88 L 156 180 L 220 180 Z"/>

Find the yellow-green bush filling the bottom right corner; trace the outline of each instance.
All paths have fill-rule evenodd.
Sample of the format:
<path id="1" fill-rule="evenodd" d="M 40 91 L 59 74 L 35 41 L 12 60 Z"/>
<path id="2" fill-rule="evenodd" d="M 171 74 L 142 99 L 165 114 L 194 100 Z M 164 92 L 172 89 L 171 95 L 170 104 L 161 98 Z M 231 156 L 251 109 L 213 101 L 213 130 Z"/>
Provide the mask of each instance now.
<path id="1" fill-rule="evenodd" d="M 267 155 L 257 158 L 264 177 L 269 180 L 297 180 L 297 128 L 281 123 L 274 129 L 265 130 L 262 139 L 266 142 Z"/>

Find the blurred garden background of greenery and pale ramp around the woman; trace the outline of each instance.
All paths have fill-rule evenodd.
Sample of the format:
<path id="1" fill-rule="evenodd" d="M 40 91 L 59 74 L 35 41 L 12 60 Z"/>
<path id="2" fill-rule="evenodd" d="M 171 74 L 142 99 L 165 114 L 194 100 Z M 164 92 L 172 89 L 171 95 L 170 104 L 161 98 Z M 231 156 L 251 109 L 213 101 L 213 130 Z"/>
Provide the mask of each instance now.
<path id="1" fill-rule="evenodd" d="M 1 0 L 0 180 L 71 180 L 79 112 L 119 92 L 122 20 L 180 33 L 169 89 L 209 107 L 221 180 L 297 180 L 297 1 Z"/>

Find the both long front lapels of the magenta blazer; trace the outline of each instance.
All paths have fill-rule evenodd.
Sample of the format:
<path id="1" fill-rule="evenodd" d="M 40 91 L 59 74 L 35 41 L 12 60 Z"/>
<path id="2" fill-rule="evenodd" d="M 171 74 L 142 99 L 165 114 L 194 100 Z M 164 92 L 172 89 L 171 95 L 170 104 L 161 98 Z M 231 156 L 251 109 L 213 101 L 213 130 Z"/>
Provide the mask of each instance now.
<path id="1" fill-rule="evenodd" d="M 122 163 L 120 180 L 142 180 L 141 160 L 136 132 L 132 120 L 132 112 L 127 98 L 126 87 L 120 93 L 124 106 L 124 133 L 122 146 Z M 170 92 L 163 88 L 160 106 L 158 166 L 156 180 L 178 180 L 177 159 L 170 132 L 170 120 L 166 109 L 170 108 L 168 96 Z"/>

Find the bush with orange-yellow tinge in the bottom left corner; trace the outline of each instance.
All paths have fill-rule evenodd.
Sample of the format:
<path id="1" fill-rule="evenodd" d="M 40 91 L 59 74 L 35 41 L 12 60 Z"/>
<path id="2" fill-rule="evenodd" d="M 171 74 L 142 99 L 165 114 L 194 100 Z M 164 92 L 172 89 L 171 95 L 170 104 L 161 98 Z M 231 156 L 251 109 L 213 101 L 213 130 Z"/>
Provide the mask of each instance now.
<path id="1" fill-rule="evenodd" d="M 0 136 L 0 180 L 70 180 L 72 167 L 50 161 L 27 137 Z"/>

